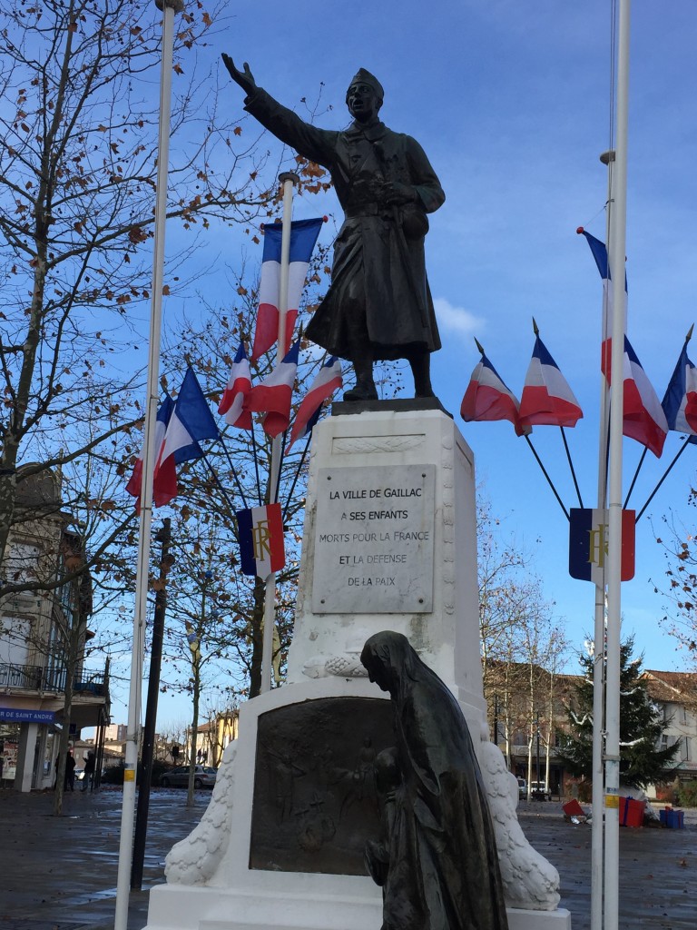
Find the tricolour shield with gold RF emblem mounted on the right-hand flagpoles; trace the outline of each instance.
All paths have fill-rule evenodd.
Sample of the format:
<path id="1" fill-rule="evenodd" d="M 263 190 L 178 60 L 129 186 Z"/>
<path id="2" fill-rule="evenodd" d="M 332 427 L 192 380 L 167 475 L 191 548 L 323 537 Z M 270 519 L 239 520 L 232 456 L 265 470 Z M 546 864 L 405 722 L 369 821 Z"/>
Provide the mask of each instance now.
<path id="1" fill-rule="evenodd" d="M 610 521 L 601 508 L 572 507 L 569 512 L 569 574 L 581 581 L 605 583 L 605 565 L 609 551 Z M 636 515 L 622 512 L 622 581 L 634 578 L 634 538 Z"/>

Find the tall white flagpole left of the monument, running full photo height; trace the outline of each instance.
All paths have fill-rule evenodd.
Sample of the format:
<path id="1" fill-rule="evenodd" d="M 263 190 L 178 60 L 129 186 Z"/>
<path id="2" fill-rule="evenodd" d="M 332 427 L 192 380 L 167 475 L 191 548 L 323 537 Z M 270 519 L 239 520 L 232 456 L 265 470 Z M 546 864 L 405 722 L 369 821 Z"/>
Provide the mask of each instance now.
<path id="1" fill-rule="evenodd" d="M 136 801 L 138 742 L 140 736 L 143 657 L 145 652 L 145 626 L 148 604 L 148 567 L 150 562 L 152 522 L 152 472 L 154 471 L 155 464 L 155 419 L 157 417 L 158 382 L 160 378 L 164 220 L 167 202 L 167 163 L 169 159 L 172 64 L 174 56 L 174 16 L 175 13 L 180 13 L 184 9 L 183 0 L 155 0 L 155 4 L 159 9 L 163 10 L 164 13 L 162 72 L 160 76 L 160 134 L 157 154 L 150 352 L 148 358 L 148 393 L 145 410 L 143 472 L 142 485 L 140 487 L 136 604 L 133 617 L 131 681 L 128 695 L 128 724 L 125 743 L 124 800 L 121 812 L 121 837 L 119 843 L 119 869 L 116 880 L 114 930 L 126 930 L 126 925 L 128 923 L 128 897 L 130 893 L 131 857 L 133 853 L 133 824 Z"/>

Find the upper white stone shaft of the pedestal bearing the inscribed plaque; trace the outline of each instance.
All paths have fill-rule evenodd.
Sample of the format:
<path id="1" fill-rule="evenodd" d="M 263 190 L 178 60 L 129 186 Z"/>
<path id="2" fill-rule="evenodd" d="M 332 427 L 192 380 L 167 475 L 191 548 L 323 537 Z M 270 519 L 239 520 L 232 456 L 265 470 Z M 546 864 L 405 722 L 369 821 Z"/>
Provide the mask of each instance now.
<path id="1" fill-rule="evenodd" d="M 450 417 L 385 411 L 316 428 L 300 568 L 289 681 L 364 674 L 362 644 L 394 630 L 478 730 L 485 708 L 474 456 Z"/>

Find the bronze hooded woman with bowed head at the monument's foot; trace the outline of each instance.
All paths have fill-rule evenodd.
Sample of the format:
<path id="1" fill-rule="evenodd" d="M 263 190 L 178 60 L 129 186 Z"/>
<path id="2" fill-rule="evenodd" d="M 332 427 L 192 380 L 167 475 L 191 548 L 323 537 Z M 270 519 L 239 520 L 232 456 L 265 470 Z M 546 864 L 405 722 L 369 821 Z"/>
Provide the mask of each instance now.
<path id="1" fill-rule="evenodd" d="M 388 811 L 382 930 L 507 930 L 493 825 L 457 701 L 401 633 L 376 633 L 361 661 L 394 709 L 398 784 Z"/>

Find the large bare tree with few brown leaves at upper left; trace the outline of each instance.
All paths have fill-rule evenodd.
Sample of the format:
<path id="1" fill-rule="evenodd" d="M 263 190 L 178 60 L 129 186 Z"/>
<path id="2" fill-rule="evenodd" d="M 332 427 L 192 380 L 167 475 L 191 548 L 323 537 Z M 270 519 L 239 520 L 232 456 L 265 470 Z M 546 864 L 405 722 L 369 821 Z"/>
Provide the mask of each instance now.
<path id="1" fill-rule="evenodd" d="M 213 218 L 247 223 L 269 199 L 255 140 L 196 73 L 216 15 L 196 3 L 176 32 L 167 216 L 189 231 L 183 253 Z M 134 347 L 128 312 L 150 299 L 160 43 L 150 0 L 0 12 L 0 560 L 18 481 L 123 454 L 141 416 L 119 355 Z M 183 284 L 171 272 L 165 292 Z"/>

